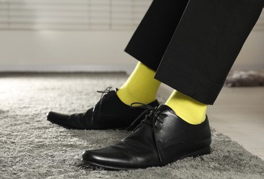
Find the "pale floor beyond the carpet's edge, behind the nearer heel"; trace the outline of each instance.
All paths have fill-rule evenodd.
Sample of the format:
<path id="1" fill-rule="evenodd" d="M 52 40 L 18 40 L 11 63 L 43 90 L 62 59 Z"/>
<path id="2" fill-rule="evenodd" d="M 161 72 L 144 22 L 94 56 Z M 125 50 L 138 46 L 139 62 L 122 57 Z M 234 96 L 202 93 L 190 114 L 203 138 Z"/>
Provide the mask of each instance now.
<path id="1" fill-rule="evenodd" d="M 170 92 L 165 85 L 159 90 L 164 97 Z M 211 127 L 264 160 L 264 87 L 223 87 L 208 118 Z"/>

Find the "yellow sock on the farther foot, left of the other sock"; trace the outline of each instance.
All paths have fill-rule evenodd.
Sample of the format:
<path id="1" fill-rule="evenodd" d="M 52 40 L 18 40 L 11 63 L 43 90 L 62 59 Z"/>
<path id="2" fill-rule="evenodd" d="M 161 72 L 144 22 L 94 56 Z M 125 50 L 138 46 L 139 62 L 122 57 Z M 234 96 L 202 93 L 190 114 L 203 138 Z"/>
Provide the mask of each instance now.
<path id="1" fill-rule="evenodd" d="M 118 97 L 126 105 L 135 102 L 148 104 L 155 101 L 160 82 L 154 76 L 155 71 L 143 63 L 137 63 L 135 70 L 118 90 Z"/>

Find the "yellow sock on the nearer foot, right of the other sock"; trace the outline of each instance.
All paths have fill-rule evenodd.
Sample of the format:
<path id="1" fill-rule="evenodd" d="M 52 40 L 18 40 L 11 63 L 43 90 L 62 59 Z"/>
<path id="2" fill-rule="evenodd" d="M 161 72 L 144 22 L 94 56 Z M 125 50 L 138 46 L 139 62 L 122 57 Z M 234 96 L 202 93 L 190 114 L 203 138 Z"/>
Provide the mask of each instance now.
<path id="1" fill-rule="evenodd" d="M 206 119 L 207 105 L 176 90 L 170 95 L 165 105 L 168 105 L 176 112 L 177 116 L 192 125 L 201 124 Z"/>

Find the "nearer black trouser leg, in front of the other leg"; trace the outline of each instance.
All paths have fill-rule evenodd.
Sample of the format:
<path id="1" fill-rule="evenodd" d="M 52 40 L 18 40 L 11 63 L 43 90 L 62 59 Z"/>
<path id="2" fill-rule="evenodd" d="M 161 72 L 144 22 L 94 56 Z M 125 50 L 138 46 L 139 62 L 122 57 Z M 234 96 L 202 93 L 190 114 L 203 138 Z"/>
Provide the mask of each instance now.
<path id="1" fill-rule="evenodd" d="M 212 105 L 259 19 L 263 3 L 263 0 L 190 0 L 155 78 Z"/>

